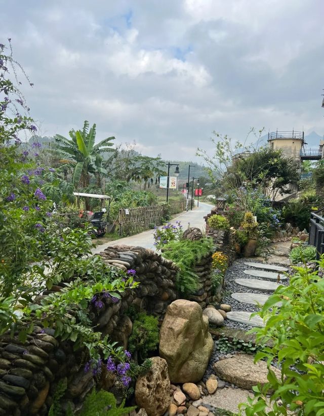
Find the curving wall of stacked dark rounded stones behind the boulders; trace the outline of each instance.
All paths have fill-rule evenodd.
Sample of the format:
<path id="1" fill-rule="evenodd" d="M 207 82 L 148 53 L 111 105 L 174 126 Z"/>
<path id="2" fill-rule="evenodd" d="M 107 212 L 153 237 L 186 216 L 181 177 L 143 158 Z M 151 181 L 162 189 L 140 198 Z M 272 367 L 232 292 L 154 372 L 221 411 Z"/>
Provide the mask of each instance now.
<path id="1" fill-rule="evenodd" d="M 121 300 L 101 297 L 99 310 L 94 304 L 89 317 L 94 326 L 112 341 L 127 348 L 132 331 L 132 321 L 126 315 L 130 306 L 145 309 L 161 322 L 168 305 L 177 299 L 175 279 L 178 267 L 161 255 L 142 247 L 111 246 L 100 253 L 111 267 L 134 269 L 141 283 L 136 289 L 126 290 Z M 199 276 L 200 287 L 192 300 L 201 307 L 213 300 L 209 279 L 211 259 L 202 259 L 194 271 Z M 53 286 L 60 290 L 64 283 Z M 43 295 L 47 295 L 46 291 Z M 115 303 L 113 302 L 115 301 Z M 54 337 L 53 329 L 35 327 L 27 335 L 26 343 L 9 335 L 0 337 L 0 416 L 46 415 L 53 402 L 59 382 L 66 381 L 67 389 L 62 399 L 63 407 L 70 403 L 73 410 L 82 407 L 85 396 L 98 382 L 92 371 L 85 372 L 89 360 L 86 349 L 73 351 L 73 343 Z M 112 384 L 103 370 L 101 385 L 109 389 Z"/>

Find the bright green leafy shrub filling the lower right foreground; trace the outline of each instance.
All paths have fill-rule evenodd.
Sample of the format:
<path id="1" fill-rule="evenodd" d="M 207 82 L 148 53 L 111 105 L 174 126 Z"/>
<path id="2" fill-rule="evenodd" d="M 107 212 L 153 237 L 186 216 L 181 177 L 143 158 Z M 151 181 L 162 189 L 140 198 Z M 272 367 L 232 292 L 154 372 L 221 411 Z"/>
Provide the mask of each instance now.
<path id="1" fill-rule="evenodd" d="M 323 267 L 324 256 L 319 261 Z M 257 313 L 265 322 L 253 329 L 257 342 L 271 341 L 255 357 L 267 360 L 268 383 L 253 387 L 255 397 L 241 405 L 247 416 L 324 414 L 324 279 L 318 271 L 294 269 L 289 286 L 278 286 Z M 280 379 L 269 368 L 271 362 L 281 366 Z"/>

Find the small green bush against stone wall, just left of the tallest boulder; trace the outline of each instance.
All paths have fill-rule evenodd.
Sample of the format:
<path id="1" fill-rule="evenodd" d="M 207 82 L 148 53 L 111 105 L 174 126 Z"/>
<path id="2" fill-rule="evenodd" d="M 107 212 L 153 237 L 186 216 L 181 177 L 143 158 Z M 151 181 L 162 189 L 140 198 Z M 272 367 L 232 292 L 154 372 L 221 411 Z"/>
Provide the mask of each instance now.
<path id="1" fill-rule="evenodd" d="M 129 350 L 137 351 L 144 360 L 149 351 L 155 351 L 158 345 L 158 321 L 153 315 L 141 312 L 133 322 L 132 334 L 129 338 Z"/>

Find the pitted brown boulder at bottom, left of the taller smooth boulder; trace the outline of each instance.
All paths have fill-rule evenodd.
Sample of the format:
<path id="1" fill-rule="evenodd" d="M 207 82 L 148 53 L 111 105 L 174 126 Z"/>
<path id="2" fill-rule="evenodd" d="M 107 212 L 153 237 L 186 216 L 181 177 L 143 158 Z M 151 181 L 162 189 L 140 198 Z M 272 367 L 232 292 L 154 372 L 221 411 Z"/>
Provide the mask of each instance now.
<path id="1" fill-rule="evenodd" d="M 138 407 L 143 407 L 148 416 L 160 416 L 171 402 L 168 365 L 160 357 L 153 357 L 151 361 L 149 372 L 136 381 L 135 399 Z"/>

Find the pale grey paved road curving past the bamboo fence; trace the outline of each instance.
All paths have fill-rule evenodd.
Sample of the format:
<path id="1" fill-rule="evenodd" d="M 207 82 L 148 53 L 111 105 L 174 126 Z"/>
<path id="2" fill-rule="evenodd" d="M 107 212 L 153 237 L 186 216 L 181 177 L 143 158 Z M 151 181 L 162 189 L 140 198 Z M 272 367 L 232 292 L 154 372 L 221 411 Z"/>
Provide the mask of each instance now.
<path id="1" fill-rule="evenodd" d="M 171 220 L 171 223 L 175 224 L 176 221 L 181 221 L 181 224 L 183 225 L 184 229 L 187 228 L 188 223 L 190 223 L 190 227 L 198 227 L 200 229 L 205 229 L 204 216 L 211 212 L 212 207 L 212 204 L 199 201 L 199 207 L 195 207 L 192 211 L 179 214 L 177 217 Z M 139 245 L 141 247 L 151 248 L 152 250 L 154 250 L 155 247 L 153 244 L 153 233 L 154 230 L 143 231 L 140 234 L 131 235 L 130 237 L 119 238 L 118 240 L 97 245 L 97 247 L 92 250 L 92 253 L 100 253 L 108 246 L 119 244 Z"/>

